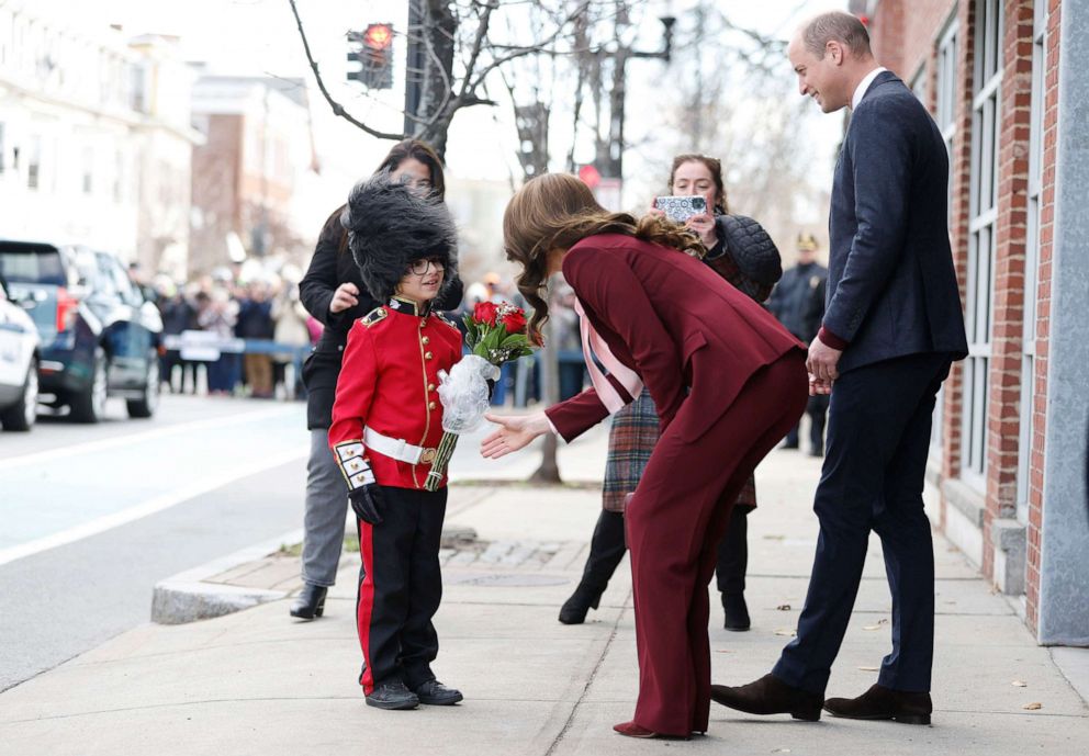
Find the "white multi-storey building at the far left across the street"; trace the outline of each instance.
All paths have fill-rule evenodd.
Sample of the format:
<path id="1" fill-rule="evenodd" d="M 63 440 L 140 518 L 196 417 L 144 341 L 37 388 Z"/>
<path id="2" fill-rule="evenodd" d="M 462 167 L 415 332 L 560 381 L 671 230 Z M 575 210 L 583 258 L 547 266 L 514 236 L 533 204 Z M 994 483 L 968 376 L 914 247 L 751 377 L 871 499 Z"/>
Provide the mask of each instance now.
<path id="1" fill-rule="evenodd" d="M 63 3 L 0 4 L 0 236 L 70 240 L 186 273 L 191 74 Z"/>

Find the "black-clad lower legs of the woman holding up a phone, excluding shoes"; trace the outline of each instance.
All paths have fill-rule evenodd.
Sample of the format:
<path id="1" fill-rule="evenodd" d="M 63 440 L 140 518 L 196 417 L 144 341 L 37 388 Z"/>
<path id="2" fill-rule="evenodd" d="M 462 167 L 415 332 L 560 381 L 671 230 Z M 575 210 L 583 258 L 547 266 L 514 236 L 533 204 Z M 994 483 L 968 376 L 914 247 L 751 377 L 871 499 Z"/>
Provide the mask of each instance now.
<path id="1" fill-rule="evenodd" d="M 743 594 L 745 572 L 749 567 L 749 512 L 750 507 L 734 507 L 730 524 L 718 546 L 718 589 L 722 594 Z M 590 541 L 590 555 L 582 572 L 581 584 L 594 591 L 604 593 L 613 573 L 628 550 L 624 540 L 624 515 L 603 509 Z"/>

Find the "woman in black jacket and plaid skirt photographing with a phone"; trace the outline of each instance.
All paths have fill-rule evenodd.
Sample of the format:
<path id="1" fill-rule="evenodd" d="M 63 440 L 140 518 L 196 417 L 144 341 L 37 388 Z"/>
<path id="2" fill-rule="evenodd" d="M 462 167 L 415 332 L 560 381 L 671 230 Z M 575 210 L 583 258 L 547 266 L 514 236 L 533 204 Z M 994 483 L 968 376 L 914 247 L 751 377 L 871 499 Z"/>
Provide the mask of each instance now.
<path id="1" fill-rule="evenodd" d="M 778 250 L 770 240 L 766 249 L 753 249 L 751 240 L 761 238 L 756 236 L 744 237 L 745 244 L 737 239 L 732 246 L 727 244 L 733 225 L 741 221 L 728 216 L 722 166 L 719 160 L 704 155 L 678 155 L 673 159 L 667 185 L 670 193 L 674 195 L 701 196 L 710 208 L 685 222 L 685 226 L 699 236 L 708 250 L 704 262 L 756 302 L 766 300 L 782 274 Z M 650 214 L 666 217 L 663 211 L 653 205 Z M 582 579 L 560 609 L 560 622 L 581 624 L 590 609 L 596 609 L 600 602 L 602 594 L 627 551 L 621 514 L 624 498 L 639 484 L 658 438 L 654 403 L 644 390 L 635 402 L 620 409 L 613 418 L 602 492 L 602 514 L 594 528 Z M 746 631 L 751 627 L 744 590 L 749 566 L 748 517 L 755 507 L 756 484 L 750 478 L 738 496 L 726 537 L 718 550 L 716 573 L 722 598 L 723 627 L 727 630 Z"/>

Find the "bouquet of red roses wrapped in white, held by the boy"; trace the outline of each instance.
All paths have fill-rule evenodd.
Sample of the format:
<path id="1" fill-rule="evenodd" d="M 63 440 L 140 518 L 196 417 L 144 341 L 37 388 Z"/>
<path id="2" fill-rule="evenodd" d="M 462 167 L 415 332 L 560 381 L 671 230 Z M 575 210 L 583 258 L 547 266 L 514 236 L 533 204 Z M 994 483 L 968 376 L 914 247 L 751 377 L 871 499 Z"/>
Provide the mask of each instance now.
<path id="1" fill-rule="evenodd" d="M 470 353 L 450 369 L 439 371 L 442 402 L 442 440 L 436 450 L 424 488 L 437 490 L 446 475 L 460 433 L 474 430 L 487 411 L 489 381 L 499 377 L 499 368 L 534 353 L 526 335 L 526 311 L 507 302 L 480 302 L 464 317 L 465 345 Z"/>

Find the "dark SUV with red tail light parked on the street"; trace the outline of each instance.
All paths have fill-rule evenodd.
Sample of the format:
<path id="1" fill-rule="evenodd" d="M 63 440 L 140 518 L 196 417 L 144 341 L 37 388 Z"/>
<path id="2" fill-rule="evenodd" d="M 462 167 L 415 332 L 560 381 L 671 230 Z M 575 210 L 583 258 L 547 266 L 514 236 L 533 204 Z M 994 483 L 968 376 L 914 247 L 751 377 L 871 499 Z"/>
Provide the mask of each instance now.
<path id="1" fill-rule="evenodd" d="M 130 417 L 151 417 L 162 320 L 116 257 L 80 246 L 0 239 L 0 277 L 42 337 L 43 404 L 67 405 L 72 419 L 97 422 L 106 397 L 120 396 Z"/>

